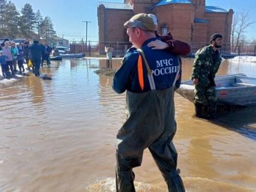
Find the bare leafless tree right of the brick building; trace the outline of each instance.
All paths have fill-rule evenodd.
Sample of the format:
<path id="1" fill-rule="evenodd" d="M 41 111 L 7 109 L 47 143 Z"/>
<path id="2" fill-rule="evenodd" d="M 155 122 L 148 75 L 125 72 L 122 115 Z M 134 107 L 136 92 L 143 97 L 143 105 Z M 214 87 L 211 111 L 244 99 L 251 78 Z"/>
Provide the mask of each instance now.
<path id="1" fill-rule="evenodd" d="M 252 26 L 254 22 L 251 21 L 248 12 L 235 13 L 233 17 L 232 29 L 231 29 L 231 39 L 232 47 L 234 47 L 234 52 L 236 52 L 239 43 L 241 43 L 241 38 L 244 36 L 246 29 Z"/>

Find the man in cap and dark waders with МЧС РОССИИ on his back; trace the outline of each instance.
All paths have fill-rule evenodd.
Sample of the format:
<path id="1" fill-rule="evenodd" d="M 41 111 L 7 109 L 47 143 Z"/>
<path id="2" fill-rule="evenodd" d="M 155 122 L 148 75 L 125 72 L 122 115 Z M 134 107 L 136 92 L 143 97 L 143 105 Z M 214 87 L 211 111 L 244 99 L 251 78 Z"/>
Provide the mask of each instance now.
<path id="1" fill-rule="evenodd" d="M 137 49 L 125 54 L 113 79 L 113 90 L 127 90 L 127 120 L 116 136 L 116 191 L 135 191 L 132 168 L 141 165 L 148 148 L 169 191 L 185 191 L 177 171 L 173 145 L 175 122 L 174 92 L 179 77 L 179 57 L 167 50 L 148 47 L 157 40 L 156 24 L 145 14 L 125 22 L 129 40 Z"/>

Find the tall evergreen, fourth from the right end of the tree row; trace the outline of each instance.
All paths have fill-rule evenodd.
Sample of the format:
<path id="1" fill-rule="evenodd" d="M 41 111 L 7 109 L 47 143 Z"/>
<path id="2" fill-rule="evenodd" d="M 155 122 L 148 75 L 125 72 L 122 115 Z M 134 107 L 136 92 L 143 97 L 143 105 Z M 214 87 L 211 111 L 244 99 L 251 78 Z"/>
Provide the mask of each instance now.
<path id="1" fill-rule="evenodd" d="M 6 4 L 6 11 L 4 12 L 4 24 L 6 26 L 6 33 L 11 38 L 18 36 L 19 12 L 15 4 L 9 1 Z"/>

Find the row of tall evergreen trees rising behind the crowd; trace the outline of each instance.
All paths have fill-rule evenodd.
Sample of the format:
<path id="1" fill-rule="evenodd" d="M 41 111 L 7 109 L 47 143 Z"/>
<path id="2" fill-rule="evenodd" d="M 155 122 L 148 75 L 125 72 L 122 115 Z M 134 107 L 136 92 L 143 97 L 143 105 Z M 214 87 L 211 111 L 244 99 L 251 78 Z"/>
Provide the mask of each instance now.
<path id="1" fill-rule="evenodd" d="M 26 3 L 21 13 L 20 16 L 11 1 L 7 3 L 6 0 L 0 0 L 0 37 L 37 38 L 40 35 L 49 41 L 56 35 L 51 18 L 43 19 L 40 10 L 34 13 L 31 5 Z"/>

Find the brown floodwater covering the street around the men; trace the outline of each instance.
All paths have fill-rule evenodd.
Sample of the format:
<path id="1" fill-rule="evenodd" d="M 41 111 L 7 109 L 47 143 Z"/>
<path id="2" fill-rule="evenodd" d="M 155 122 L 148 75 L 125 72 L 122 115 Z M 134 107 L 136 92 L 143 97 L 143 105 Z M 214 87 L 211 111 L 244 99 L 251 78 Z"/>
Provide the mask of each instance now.
<path id="1" fill-rule="evenodd" d="M 182 59 L 189 79 L 193 59 Z M 125 121 L 125 93 L 98 76 L 99 60 L 52 61 L 43 72 L 0 88 L 0 191 L 115 191 L 115 138 Z M 218 75 L 256 77 L 256 63 L 224 61 Z M 174 144 L 190 192 L 256 191 L 256 107 L 193 117 L 193 103 L 175 94 Z M 166 191 L 145 150 L 135 168 L 138 191 Z"/>

